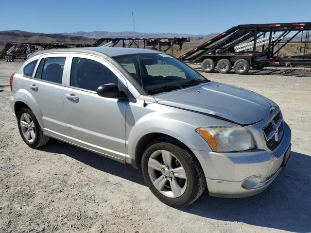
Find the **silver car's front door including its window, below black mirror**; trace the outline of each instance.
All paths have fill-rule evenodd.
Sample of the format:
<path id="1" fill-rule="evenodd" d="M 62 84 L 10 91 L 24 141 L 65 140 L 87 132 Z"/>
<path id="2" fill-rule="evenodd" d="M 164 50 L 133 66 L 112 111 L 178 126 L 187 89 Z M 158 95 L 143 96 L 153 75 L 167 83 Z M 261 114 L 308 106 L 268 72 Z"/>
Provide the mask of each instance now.
<path id="1" fill-rule="evenodd" d="M 127 91 L 118 71 L 100 57 L 71 54 L 64 88 L 64 109 L 69 140 L 81 147 L 125 160 L 127 101 L 103 98 L 97 88 L 115 83 Z"/>

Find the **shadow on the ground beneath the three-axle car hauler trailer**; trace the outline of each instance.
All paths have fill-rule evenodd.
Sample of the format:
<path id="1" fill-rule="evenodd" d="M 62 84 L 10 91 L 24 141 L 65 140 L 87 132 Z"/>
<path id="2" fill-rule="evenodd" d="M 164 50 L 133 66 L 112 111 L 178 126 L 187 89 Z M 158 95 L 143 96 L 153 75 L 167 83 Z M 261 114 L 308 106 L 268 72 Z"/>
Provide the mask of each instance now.
<path id="1" fill-rule="evenodd" d="M 204 72 L 201 67 L 194 68 L 196 71 Z M 218 73 L 218 71 L 214 71 Z M 236 74 L 233 69 L 229 73 Z M 263 68 L 262 70 L 250 69 L 246 75 L 278 75 L 278 76 L 295 76 L 295 77 L 310 77 L 310 69 L 295 69 L 295 68 Z"/>

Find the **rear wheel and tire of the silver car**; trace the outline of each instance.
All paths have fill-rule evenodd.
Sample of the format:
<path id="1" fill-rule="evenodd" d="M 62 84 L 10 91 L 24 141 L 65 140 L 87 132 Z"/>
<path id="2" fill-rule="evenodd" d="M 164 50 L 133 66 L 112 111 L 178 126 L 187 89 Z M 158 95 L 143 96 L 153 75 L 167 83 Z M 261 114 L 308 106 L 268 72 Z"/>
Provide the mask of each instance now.
<path id="1" fill-rule="evenodd" d="M 30 117 L 30 119 L 27 119 L 27 117 L 25 117 L 27 115 Z M 28 126 L 26 126 L 25 123 Z M 18 130 L 19 130 L 19 133 L 22 139 L 29 147 L 37 148 L 48 143 L 50 137 L 43 134 L 42 129 L 37 119 L 35 118 L 34 113 L 30 109 L 22 108 L 18 112 L 17 124 L 18 124 Z M 21 126 L 21 124 L 23 124 L 23 126 L 25 127 Z M 28 139 L 26 137 L 28 137 Z"/>

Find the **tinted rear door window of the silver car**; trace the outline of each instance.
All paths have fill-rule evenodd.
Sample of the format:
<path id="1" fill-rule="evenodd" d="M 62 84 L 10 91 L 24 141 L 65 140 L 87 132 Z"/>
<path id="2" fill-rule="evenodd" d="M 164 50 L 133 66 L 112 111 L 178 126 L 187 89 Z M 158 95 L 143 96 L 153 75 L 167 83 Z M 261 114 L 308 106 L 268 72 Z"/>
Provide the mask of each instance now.
<path id="1" fill-rule="evenodd" d="M 35 78 L 52 83 L 62 83 L 66 57 L 48 57 L 41 59 Z"/>

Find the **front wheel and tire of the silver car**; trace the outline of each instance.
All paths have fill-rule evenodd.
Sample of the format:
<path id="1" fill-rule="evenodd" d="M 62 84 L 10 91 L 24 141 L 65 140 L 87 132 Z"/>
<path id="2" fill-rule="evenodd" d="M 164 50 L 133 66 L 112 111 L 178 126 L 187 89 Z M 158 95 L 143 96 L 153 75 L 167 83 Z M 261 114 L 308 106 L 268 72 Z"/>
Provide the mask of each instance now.
<path id="1" fill-rule="evenodd" d="M 172 158 L 166 159 L 171 161 L 171 165 L 170 162 L 164 162 L 164 157 Z M 167 205 L 190 205 L 205 190 L 206 180 L 199 161 L 188 148 L 170 137 L 159 137 L 150 142 L 142 155 L 141 165 L 149 189 Z M 158 188 L 154 183 L 159 184 Z M 173 192 L 172 186 L 177 185 L 178 188 L 174 188 L 176 191 Z"/>

